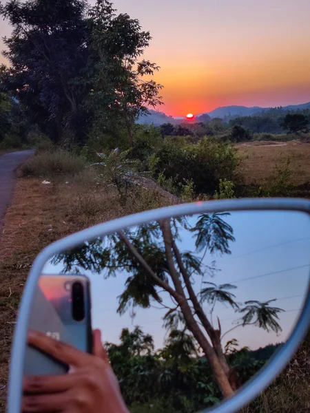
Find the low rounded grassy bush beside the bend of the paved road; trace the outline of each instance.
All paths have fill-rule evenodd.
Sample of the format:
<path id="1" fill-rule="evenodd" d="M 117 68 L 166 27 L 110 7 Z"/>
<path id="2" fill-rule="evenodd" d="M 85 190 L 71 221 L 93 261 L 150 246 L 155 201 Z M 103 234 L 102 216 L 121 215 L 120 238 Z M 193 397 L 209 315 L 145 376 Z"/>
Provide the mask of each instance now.
<path id="1" fill-rule="evenodd" d="M 69 151 L 56 149 L 37 153 L 25 162 L 21 167 L 21 173 L 23 176 L 52 180 L 75 176 L 81 173 L 86 165 L 83 158 Z"/>

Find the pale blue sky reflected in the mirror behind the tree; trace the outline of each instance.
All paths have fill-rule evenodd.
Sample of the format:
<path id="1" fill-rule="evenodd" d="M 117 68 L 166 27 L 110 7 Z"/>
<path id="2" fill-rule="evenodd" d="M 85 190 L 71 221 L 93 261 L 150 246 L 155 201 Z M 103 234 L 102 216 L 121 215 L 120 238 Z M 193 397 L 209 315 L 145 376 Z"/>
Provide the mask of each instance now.
<path id="1" fill-rule="evenodd" d="M 188 218 L 192 226 L 197 222 L 195 215 Z M 249 300 L 268 301 L 276 299 L 272 306 L 284 310 L 279 314 L 279 324 L 282 332 L 266 332 L 255 326 L 236 327 L 240 314 L 224 304 L 216 304 L 213 316 L 210 315 L 210 306 L 205 303 L 204 310 L 209 319 L 217 325 L 220 319 L 222 332 L 228 332 L 223 337 L 223 344 L 229 339 L 238 339 L 240 346 L 249 346 L 256 350 L 269 343 L 286 341 L 300 315 L 309 285 L 309 215 L 297 212 L 278 211 L 247 211 L 231 213 L 225 222 L 234 229 L 235 242 L 229 243 L 230 255 L 198 254 L 205 265 L 212 264 L 218 271 L 211 277 L 208 271 L 202 279 L 200 275 L 193 275 L 193 288 L 198 294 L 200 288 L 209 286 L 202 282 L 215 284 L 233 284 L 237 288 L 231 290 L 236 295 L 235 300 L 244 303 Z M 192 233 L 180 230 L 178 248 L 180 251 L 196 253 L 195 240 Z M 53 275 L 62 273 L 63 265 L 54 266 L 47 263 L 43 274 Z M 148 309 L 135 308 L 136 317 L 132 319 L 130 312 L 119 315 L 118 296 L 125 289 L 125 280 L 130 275 L 118 272 L 116 277 L 105 279 L 103 271 L 100 275 L 81 269 L 87 275 L 92 289 L 92 326 L 100 328 L 103 340 L 118 343 L 122 328 L 132 330 L 134 326 L 141 326 L 145 333 L 154 337 L 156 348 L 162 348 L 167 331 L 163 328 L 163 316 L 167 308 L 160 304 Z M 51 281 L 52 282 L 52 281 Z M 54 284 L 52 282 L 52 284 Z M 65 292 L 63 292 L 65 293 Z M 163 304 L 174 306 L 167 293 L 161 294 Z M 198 295 L 199 297 L 199 295 Z M 234 328 L 231 332 L 231 328 Z"/>

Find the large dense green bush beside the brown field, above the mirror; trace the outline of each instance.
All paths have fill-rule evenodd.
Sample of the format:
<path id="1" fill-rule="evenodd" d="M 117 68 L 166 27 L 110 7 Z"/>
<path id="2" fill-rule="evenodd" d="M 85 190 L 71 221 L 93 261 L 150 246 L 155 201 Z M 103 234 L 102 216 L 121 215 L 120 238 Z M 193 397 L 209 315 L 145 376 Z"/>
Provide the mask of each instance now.
<path id="1" fill-rule="evenodd" d="M 192 182 L 196 194 L 213 194 L 221 178 L 236 180 L 238 165 L 237 149 L 210 138 L 197 145 L 165 141 L 149 162 L 154 178 L 170 180 L 179 193 L 185 182 Z"/>

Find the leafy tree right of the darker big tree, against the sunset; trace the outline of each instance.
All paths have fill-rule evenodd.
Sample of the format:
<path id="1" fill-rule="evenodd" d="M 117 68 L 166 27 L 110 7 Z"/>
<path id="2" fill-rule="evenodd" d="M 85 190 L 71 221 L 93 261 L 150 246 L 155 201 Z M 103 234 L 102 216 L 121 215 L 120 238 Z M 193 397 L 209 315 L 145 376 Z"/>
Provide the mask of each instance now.
<path id="1" fill-rule="evenodd" d="M 133 126 L 148 107 L 162 105 L 158 96 L 162 85 L 145 80 L 159 67 L 145 59 L 140 60 L 152 39 L 149 32 L 141 31 L 136 19 L 128 14 L 114 14 L 112 3 L 97 0 L 90 8 L 91 41 L 94 64 L 91 103 L 95 107 L 97 126 L 116 123 L 125 125 L 133 144 Z"/>

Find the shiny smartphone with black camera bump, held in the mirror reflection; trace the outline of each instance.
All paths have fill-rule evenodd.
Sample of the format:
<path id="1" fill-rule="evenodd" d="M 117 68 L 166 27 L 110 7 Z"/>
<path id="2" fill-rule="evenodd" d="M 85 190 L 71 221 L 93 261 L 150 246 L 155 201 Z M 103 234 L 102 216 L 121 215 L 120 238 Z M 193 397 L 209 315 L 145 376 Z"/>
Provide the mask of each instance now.
<path id="1" fill-rule="evenodd" d="M 92 352 L 90 280 L 85 275 L 41 275 L 34 293 L 30 330 Z M 26 346 L 24 375 L 66 374 L 69 366 Z"/>

